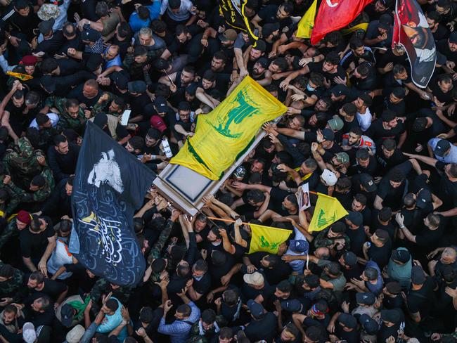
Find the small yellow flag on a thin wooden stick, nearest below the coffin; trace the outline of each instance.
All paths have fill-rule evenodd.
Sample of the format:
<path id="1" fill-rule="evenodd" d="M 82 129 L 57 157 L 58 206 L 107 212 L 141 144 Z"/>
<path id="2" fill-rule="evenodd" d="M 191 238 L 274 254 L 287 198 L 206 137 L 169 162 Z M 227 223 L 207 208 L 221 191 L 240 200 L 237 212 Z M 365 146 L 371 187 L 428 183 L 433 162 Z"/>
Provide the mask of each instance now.
<path id="1" fill-rule="evenodd" d="M 251 244 L 248 254 L 254 252 L 269 252 L 270 254 L 277 254 L 279 245 L 288 240 L 290 230 L 283 228 L 272 228 L 271 226 L 263 226 L 256 224 L 249 224 L 252 232 Z"/>

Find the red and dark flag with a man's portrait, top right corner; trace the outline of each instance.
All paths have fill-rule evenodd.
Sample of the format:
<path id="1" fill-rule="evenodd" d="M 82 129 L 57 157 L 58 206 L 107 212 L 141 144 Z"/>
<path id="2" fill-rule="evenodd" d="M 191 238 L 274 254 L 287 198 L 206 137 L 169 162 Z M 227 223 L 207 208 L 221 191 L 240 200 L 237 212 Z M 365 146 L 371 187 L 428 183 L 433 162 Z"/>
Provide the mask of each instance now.
<path id="1" fill-rule="evenodd" d="M 392 47 L 396 44 L 404 46 L 408 54 L 413 83 L 425 88 L 435 70 L 437 50 L 433 34 L 416 0 L 397 0 Z"/>

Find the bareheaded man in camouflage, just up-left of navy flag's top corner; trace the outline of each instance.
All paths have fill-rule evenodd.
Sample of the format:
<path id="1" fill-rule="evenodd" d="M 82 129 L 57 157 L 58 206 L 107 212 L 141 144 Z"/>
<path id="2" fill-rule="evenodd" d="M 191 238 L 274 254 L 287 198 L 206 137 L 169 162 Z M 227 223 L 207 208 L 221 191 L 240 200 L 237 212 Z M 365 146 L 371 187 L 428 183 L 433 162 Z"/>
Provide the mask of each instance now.
<path id="1" fill-rule="evenodd" d="M 79 105 L 76 99 L 49 96 L 46 99 L 46 106 L 50 108 L 51 112 L 56 111 L 60 114 L 57 124 L 58 132 L 62 132 L 65 129 L 73 129 L 77 134 L 83 134 L 87 119 L 84 115 L 84 108 Z"/>

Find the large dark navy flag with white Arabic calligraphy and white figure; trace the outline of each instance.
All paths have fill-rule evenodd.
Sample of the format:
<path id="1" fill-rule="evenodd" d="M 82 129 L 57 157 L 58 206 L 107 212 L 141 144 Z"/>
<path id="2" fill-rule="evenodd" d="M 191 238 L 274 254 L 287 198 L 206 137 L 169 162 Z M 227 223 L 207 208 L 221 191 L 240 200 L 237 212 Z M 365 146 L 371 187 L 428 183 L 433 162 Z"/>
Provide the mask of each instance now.
<path id="1" fill-rule="evenodd" d="M 155 174 L 87 123 L 72 191 L 70 252 L 97 276 L 136 285 L 146 261 L 136 243 L 133 216 Z"/>

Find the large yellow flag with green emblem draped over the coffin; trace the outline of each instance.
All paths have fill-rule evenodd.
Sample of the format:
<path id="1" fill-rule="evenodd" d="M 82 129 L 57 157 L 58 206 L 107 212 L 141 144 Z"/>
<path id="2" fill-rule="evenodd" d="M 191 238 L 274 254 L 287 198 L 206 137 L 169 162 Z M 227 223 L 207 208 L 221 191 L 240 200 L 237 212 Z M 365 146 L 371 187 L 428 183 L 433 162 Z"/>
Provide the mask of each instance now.
<path id="1" fill-rule="evenodd" d="M 199 115 L 195 135 L 170 160 L 211 180 L 219 180 L 255 140 L 262 124 L 287 108 L 250 77 L 207 115 Z"/>

